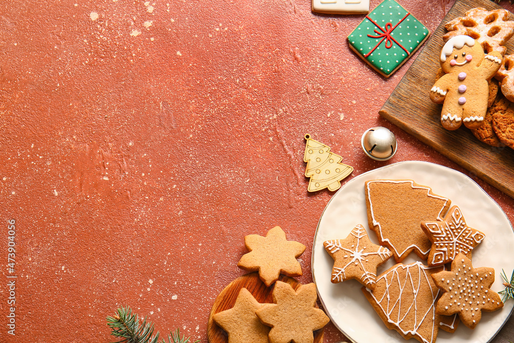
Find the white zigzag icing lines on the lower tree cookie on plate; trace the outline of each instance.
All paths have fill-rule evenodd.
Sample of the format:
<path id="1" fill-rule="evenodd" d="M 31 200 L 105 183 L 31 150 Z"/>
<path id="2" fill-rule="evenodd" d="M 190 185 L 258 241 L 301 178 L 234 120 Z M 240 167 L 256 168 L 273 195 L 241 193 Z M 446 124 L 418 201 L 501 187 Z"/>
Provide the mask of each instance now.
<path id="1" fill-rule="evenodd" d="M 397 272 L 397 270 L 399 268 L 406 269 L 405 278 L 400 279 L 400 275 Z M 412 274 L 410 272 L 410 268 L 416 268 L 418 270 L 418 273 L 419 273 L 418 279 L 415 279 L 412 276 Z M 433 284 L 432 277 L 430 275 L 428 275 L 426 272 L 426 270 L 429 270 L 432 268 L 440 268 L 440 267 L 427 267 L 427 266 L 423 265 L 423 263 L 418 261 L 418 262 L 407 264 L 407 265 L 399 264 L 396 268 L 389 270 L 388 273 L 384 273 L 384 274 L 380 275 L 377 282 L 381 279 L 384 279 L 384 281 L 386 282 L 386 292 L 384 292 L 383 296 L 380 299 L 377 299 L 375 297 L 375 295 L 373 294 L 373 291 L 366 288 L 366 291 L 368 291 L 371 294 L 371 296 L 373 297 L 373 300 L 375 300 L 377 305 L 382 310 L 382 313 L 387 317 L 388 322 L 393 323 L 403 334 L 412 334 L 412 335 L 420 338 L 423 343 L 432 343 L 434 341 L 434 331 L 435 331 L 435 328 L 437 327 L 437 325 L 435 323 L 435 304 L 437 302 L 437 297 L 439 296 L 439 293 L 441 291 L 438 290 L 438 288 L 434 286 L 434 288 L 437 292 L 435 294 L 434 294 L 434 292 L 430 292 L 432 294 L 432 304 L 430 305 L 430 307 L 428 308 L 426 313 L 424 313 L 424 314 L 421 313 L 418 315 L 417 314 L 417 304 L 416 304 L 417 294 L 419 293 L 419 287 L 421 285 L 421 279 L 424 278 L 425 281 L 427 282 L 427 284 L 429 284 L 429 285 Z M 446 268 L 444 266 L 443 266 L 443 270 L 446 270 Z M 397 299 L 394 299 L 395 302 L 390 302 L 391 297 L 389 295 L 389 287 L 393 284 L 393 281 L 398 283 L 398 285 L 400 286 L 400 294 L 398 295 Z M 416 316 L 414 317 L 414 323 L 413 323 L 412 327 L 409 328 L 409 330 L 405 330 L 405 328 L 402 328 L 400 326 L 401 322 L 404 319 L 406 319 L 407 315 L 410 313 L 410 309 L 408 309 L 408 311 L 405 313 L 401 312 L 401 306 L 402 306 L 401 295 L 404 294 L 404 292 L 406 290 L 408 291 L 407 287 L 412 287 L 412 295 L 414 295 L 414 299 L 412 301 L 413 301 L 413 305 L 414 305 L 414 311 L 416 312 Z M 397 291 L 397 288 L 394 288 L 394 291 L 392 291 L 392 292 L 396 292 L 396 291 Z M 406 292 L 406 293 L 409 293 L 409 292 Z M 382 304 L 381 304 L 382 301 L 384 301 L 384 299 L 387 299 L 387 303 L 386 303 L 387 308 L 385 308 L 385 309 L 382 307 Z M 394 317 L 393 317 L 392 314 L 394 314 L 394 313 L 396 313 L 396 315 L 394 315 Z M 425 318 L 429 314 L 432 314 L 432 321 L 433 321 L 432 336 L 430 337 L 430 339 L 421 336 L 421 334 L 417 332 L 418 328 L 421 326 L 421 324 L 423 324 L 423 322 L 425 321 Z"/>

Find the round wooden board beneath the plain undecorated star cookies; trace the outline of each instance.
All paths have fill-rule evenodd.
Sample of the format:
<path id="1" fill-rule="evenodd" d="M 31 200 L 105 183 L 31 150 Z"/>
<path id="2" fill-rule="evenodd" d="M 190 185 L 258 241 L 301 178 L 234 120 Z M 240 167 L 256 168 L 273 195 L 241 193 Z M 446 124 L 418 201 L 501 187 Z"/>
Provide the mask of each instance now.
<path id="1" fill-rule="evenodd" d="M 296 279 L 280 275 L 280 281 L 289 283 L 296 291 L 302 284 Z M 209 321 L 207 323 L 207 338 L 209 343 L 228 343 L 227 333 L 216 325 L 212 316 L 215 313 L 222 312 L 233 308 L 237 295 L 241 288 L 245 287 L 253 297 L 261 303 L 273 303 L 273 285 L 266 287 L 264 282 L 259 278 L 259 273 L 250 273 L 238 277 L 232 281 L 225 289 L 218 295 L 214 304 L 212 305 L 211 313 L 209 314 Z M 318 305 L 316 305 L 318 307 Z M 314 332 L 314 343 L 323 342 L 323 329 Z"/>

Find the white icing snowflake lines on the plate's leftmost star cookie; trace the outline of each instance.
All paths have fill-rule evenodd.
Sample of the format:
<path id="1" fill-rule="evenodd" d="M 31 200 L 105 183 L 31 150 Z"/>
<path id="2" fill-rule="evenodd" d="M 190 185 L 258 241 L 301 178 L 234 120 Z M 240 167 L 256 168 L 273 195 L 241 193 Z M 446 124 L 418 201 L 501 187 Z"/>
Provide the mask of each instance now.
<path id="1" fill-rule="evenodd" d="M 341 240 L 332 240 L 332 241 L 326 241 L 326 248 L 331 252 L 331 254 L 334 254 L 335 252 L 339 250 L 344 250 L 348 252 L 348 255 L 352 257 L 352 260 L 350 262 L 346 263 L 346 265 L 342 268 L 334 268 L 333 274 L 332 274 L 332 280 L 337 280 L 337 282 L 341 282 L 346 279 L 345 275 L 345 269 L 347 266 L 355 263 L 356 265 L 360 264 L 360 267 L 364 271 L 361 275 L 361 279 L 365 284 L 373 285 L 376 282 L 377 275 L 375 273 L 371 273 L 369 270 L 366 270 L 364 265 L 362 264 L 362 260 L 365 257 L 368 257 L 370 255 L 378 255 L 382 259 L 382 261 L 387 260 L 391 257 L 391 251 L 389 251 L 387 248 L 384 248 L 383 246 L 380 246 L 378 248 L 378 251 L 375 252 L 363 252 L 363 250 L 366 247 L 360 247 L 360 239 L 363 237 L 368 236 L 366 234 L 366 230 L 362 225 L 357 225 L 353 228 L 352 232 L 350 233 L 352 236 L 357 238 L 357 244 L 352 245 L 352 249 L 348 249 L 341 245 Z M 344 257 L 348 257 L 348 255 L 345 255 Z"/>

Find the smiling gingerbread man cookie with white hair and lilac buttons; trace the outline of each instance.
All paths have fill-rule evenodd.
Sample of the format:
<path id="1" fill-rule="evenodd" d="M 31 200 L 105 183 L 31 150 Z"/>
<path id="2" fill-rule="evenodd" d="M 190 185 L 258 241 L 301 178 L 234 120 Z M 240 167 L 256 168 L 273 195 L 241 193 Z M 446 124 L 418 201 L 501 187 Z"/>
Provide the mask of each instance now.
<path id="1" fill-rule="evenodd" d="M 450 58 L 448 58 L 450 57 Z M 467 35 L 456 35 L 443 46 L 440 63 L 446 73 L 430 90 L 430 99 L 443 103 L 441 123 L 456 130 L 481 127 L 487 112 L 488 81 L 502 65 L 502 55 L 485 55 L 482 45 Z"/>

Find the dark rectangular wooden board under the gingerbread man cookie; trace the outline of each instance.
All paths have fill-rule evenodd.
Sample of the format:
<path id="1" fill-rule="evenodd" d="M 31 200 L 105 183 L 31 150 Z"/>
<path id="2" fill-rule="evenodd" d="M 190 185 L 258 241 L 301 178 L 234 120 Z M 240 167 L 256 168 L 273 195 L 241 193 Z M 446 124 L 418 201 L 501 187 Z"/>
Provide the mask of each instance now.
<path id="1" fill-rule="evenodd" d="M 442 105 L 430 101 L 429 91 L 440 67 L 444 24 L 475 7 L 501 8 L 490 0 L 457 0 L 427 41 L 379 114 L 499 190 L 514 197 L 514 150 L 495 148 L 464 128 L 448 131 L 440 123 Z M 507 44 L 514 53 L 514 39 Z"/>

